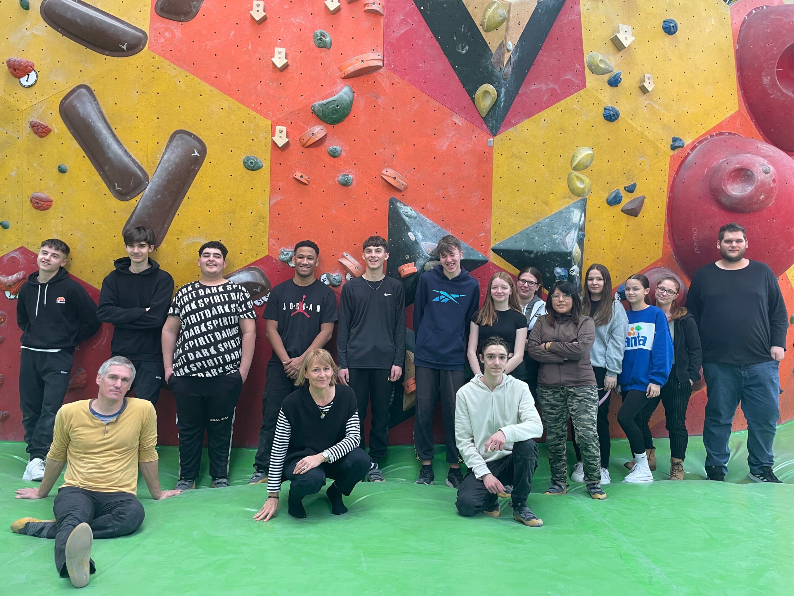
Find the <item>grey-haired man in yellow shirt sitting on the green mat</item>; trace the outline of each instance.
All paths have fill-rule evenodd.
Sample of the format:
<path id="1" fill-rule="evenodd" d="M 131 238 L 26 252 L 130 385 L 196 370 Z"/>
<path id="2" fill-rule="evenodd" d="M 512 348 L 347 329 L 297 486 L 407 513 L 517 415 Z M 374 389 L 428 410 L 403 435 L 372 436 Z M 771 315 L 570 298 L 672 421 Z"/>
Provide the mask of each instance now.
<path id="1" fill-rule="evenodd" d="M 180 490 L 160 490 L 157 478 L 157 416 L 150 401 L 126 397 L 135 367 L 116 356 L 99 367 L 94 400 L 75 401 L 58 411 L 44 479 L 36 488 L 17 490 L 17 499 L 43 499 L 68 463 L 52 511 L 55 519 L 22 517 L 11 531 L 55 539 L 55 564 L 76 588 L 94 573 L 94 538 L 132 534 L 144 521 L 135 497 L 138 470 L 149 493 L 167 499 Z"/>

